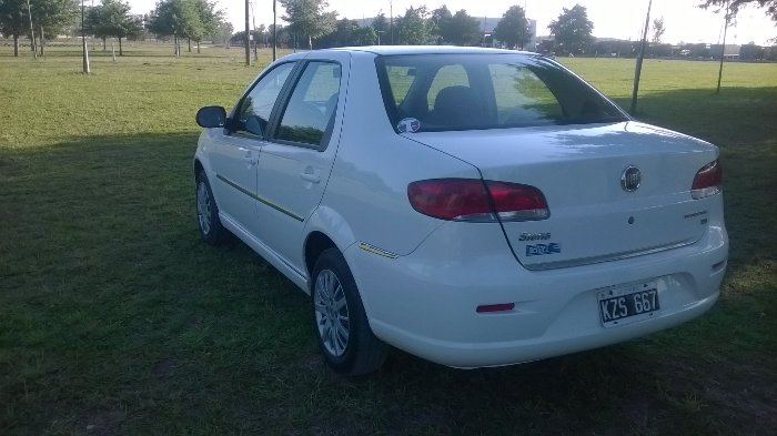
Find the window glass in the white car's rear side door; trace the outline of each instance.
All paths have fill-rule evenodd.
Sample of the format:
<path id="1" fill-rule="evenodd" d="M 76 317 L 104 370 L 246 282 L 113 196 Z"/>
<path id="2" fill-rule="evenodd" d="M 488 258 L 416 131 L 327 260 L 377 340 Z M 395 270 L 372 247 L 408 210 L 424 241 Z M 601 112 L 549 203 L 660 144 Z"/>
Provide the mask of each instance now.
<path id="1" fill-rule="evenodd" d="M 337 63 L 307 63 L 281 116 L 275 138 L 305 145 L 325 145 L 337 108 L 340 77 Z"/>

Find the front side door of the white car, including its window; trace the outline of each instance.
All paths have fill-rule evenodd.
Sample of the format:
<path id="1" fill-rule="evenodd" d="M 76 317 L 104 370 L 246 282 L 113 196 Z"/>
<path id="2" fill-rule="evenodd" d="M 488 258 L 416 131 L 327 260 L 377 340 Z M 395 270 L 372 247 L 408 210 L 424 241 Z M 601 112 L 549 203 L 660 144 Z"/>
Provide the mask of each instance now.
<path id="1" fill-rule="evenodd" d="M 219 209 L 228 219 L 256 235 L 256 162 L 266 126 L 295 62 L 276 65 L 243 95 L 232 113 L 231 125 L 210 150 Z"/>

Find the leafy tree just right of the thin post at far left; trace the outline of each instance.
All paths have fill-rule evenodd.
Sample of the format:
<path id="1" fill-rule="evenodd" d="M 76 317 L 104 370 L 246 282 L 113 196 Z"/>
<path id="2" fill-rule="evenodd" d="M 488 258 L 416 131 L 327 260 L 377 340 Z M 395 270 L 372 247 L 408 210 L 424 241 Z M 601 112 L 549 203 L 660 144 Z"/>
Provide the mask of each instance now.
<path id="1" fill-rule="evenodd" d="M 140 20 L 130 14 L 130 4 L 121 0 L 102 0 L 102 4 L 89 9 L 87 28 L 91 34 L 102 39 L 103 50 L 105 39 L 115 37 L 119 40 L 119 55 L 124 55 L 122 40 L 143 31 Z"/>

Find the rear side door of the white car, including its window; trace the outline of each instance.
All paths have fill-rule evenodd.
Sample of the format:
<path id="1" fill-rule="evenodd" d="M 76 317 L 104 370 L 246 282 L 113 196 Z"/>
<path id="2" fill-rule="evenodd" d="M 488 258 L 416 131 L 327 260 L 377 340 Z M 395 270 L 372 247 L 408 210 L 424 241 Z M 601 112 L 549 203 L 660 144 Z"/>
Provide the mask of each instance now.
<path id="1" fill-rule="evenodd" d="M 259 160 L 260 239 L 303 275 L 303 230 L 334 162 L 349 67 L 347 53 L 305 58 Z"/>

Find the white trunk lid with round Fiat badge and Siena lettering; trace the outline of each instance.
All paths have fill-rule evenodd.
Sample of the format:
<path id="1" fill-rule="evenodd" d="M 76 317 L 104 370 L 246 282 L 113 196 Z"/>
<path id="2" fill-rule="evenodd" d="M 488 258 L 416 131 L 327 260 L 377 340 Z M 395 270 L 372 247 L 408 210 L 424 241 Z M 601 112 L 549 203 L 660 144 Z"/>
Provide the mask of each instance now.
<path id="1" fill-rule="evenodd" d="M 690 186 L 717 149 L 676 132 L 623 122 L 407 138 L 472 163 L 484 180 L 543 192 L 547 219 L 502 221 L 515 257 L 531 270 L 669 250 L 707 227 L 706 202 L 693 200 Z"/>

